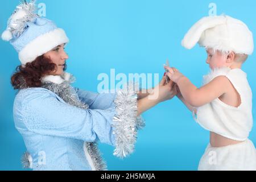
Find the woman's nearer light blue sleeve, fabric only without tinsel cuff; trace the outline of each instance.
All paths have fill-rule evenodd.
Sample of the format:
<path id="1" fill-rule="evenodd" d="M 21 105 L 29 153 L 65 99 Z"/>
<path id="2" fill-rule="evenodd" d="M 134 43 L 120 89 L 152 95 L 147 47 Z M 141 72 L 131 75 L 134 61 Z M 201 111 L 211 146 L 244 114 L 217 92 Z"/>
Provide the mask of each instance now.
<path id="1" fill-rule="evenodd" d="M 113 107 L 80 109 L 61 102 L 48 90 L 40 90 L 23 98 L 22 111 L 24 124 L 34 133 L 114 144 Z"/>

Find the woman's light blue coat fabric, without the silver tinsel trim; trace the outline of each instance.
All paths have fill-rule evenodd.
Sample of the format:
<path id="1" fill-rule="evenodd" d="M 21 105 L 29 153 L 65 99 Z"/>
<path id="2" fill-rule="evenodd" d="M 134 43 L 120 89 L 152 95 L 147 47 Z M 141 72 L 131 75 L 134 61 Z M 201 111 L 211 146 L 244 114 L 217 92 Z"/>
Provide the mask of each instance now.
<path id="1" fill-rule="evenodd" d="M 84 142 L 115 144 L 115 94 L 75 90 L 89 109 L 66 104 L 44 88 L 22 89 L 16 94 L 15 127 L 32 157 L 34 170 L 91 170 Z"/>

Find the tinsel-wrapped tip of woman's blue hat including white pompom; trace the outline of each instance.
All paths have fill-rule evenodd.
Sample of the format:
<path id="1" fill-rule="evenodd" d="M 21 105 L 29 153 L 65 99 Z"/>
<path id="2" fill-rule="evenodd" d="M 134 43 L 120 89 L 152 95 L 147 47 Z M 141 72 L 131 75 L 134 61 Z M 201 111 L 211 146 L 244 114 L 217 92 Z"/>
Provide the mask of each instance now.
<path id="1" fill-rule="evenodd" d="M 23 1 L 8 20 L 7 28 L 2 34 L 2 39 L 9 41 L 14 36 L 20 36 L 26 30 L 27 23 L 33 22 L 38 15 L 35 13 L 37 7 L 35 0 Z"/>

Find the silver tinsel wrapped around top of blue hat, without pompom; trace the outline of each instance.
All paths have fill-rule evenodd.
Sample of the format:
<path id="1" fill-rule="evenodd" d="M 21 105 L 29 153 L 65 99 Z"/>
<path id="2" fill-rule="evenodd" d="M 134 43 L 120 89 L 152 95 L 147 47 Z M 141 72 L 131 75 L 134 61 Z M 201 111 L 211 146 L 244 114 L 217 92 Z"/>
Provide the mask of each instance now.
<path id="1" fill-rule="evenodd" d="M 13 15 L 8 20 L 7 30 L 11 32 L 14 36 L 20 36 L 24 30 L 27 28 L 28 22 L 33 22 L 38 15 L 36 14 L 36 0 L 31 1 L 22 1 L 20 2 L 20 5 L 16 7 L 16 10 L 14 11 L 13 15 L 15 15 L 18 11 L 23 10 L 26 15 L 24 15 L 22 18 L 13 19 Z"/>

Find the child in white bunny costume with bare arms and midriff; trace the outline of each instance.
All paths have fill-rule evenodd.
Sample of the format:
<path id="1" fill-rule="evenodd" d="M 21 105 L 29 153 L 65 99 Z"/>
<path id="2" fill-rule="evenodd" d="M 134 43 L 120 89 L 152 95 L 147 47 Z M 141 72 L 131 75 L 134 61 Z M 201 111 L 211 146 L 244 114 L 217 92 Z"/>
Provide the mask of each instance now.
<path id="1" fill-rule="evenodd" d="M 209 16 L 192 26 L 182 45 L 191 49 L 197 42 L 206 48 L 211 69 L 204 86 L 196 88 L 176 68 L 164 68 L 179 88 L 177 96 L 210 131 L 198 169 L 256 170 L 256 150 L 247 139 L 253 126 L 252 93 L 241 69 L 253 53 L 253 35 L 240 20 Z"/>

